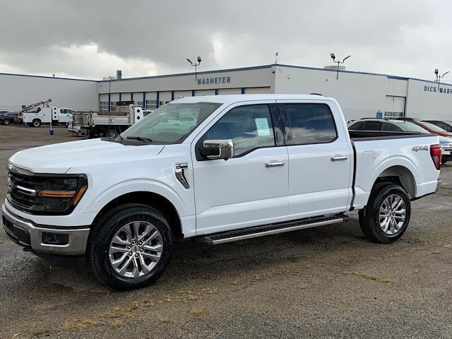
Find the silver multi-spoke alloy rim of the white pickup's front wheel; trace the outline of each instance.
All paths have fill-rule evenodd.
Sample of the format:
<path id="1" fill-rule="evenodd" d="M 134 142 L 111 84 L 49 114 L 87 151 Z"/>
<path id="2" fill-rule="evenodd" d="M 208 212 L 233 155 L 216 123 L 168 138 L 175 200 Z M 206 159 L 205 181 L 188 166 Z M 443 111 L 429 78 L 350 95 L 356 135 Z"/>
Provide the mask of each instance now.
<path id="1" fill-rule="evenodd" d="M 114 234 L 109 246 L 109 260 L 119 275 L 139 278 L 157 265 L 162 250 L 159 230 L 150 222 L 133 221 Z"/>

